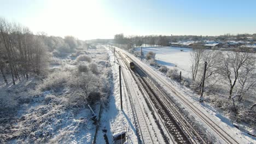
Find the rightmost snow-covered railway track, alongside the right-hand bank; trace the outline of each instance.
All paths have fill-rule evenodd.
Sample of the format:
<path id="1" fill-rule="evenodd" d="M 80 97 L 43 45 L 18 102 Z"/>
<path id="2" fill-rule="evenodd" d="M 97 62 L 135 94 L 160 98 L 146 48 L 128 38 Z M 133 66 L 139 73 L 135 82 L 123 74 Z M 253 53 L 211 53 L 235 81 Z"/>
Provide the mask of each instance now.
<path id="1" fill-rule="evenodd" d="M 138 65 L 135 62 L 136 65 Z M 152 79 L 152 76 L 155 77 L 155 79 L 158 79 L 167 89 L 169 89 L 176 97 L 178 97 L 186 106 L 189 107 L 198 117 L 201 118 L 203 122 L 205 122 L 219 137 L 223 139 L 226 143 L 238 143 L 232 136 L 230 136 L 226 131 L 224 131 L 222 128 L 218 126 L 218 124 L 214 123 L 211 118 L 209 118 L 205 113 L 201 112 L 196 106 L 191 104 L 181 93 L 179 93 L 175 88 L 173 88 L 168 82 L 166 82 L 164 79 L 162 79 L 160 76 L 154 74 L 152 72 L 152 69 L 143 67 L 142 71 L 147 74 L 150 79 Z M 147 71 L 147 73 L 145 72 Z M 149 74 L 152 76 L 150 76 Z M 153 80 L 153 79 L 152 79 Z M 158 82 L 156 82 L 158 83 Z"/>

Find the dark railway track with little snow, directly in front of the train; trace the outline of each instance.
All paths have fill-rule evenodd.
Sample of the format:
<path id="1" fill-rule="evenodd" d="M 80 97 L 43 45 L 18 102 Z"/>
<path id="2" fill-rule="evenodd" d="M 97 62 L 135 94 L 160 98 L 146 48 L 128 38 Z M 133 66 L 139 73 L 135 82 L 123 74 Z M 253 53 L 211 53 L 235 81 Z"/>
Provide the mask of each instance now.
<path id="1" fill-rule="evenodd" d="M 166 123 L 168 131 L 174 136 L 178 143 L 209 143 L 204 140 L 197 130 L 190 124 L 191 122 L 183 116 L 174 103 L 166 99 L 167 95 L 163 93 L 159 86 L 155 86 L 147 75 L 136 67 L 136 74 L 145 89 L 149 93 L 150 100 L 153 101 L 156 109 Z"/>

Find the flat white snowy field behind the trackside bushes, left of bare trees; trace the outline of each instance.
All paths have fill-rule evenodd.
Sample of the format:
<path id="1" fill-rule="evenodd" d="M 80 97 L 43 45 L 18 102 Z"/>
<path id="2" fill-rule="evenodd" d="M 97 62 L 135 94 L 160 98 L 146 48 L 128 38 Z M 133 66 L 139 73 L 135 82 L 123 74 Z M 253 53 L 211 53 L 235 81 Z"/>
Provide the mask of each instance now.
<path id="1" fill-rule="evenodd" d="M 177 68 L 178 71 L 182 71 L 182 75 L 185 77 L 190 76 L 190 51 L 192 49 L 183 47 L 143 47 L 142 51 L 146 55 L 149 51 L 156 53 L 156 62 L 165 65 L 168 68 Z M 141 51 L 137 48 L 136 51 Z"/>

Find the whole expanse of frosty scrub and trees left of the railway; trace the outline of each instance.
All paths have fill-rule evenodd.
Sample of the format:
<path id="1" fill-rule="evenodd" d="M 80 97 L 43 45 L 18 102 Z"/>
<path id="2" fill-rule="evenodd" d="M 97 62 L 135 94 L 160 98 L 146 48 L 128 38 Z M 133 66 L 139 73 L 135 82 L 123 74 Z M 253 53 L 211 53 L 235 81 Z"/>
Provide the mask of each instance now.
<path id="1" fill-rule="evenodd" d="M 106 50 L 71 36 L 8 35 L 1 22 L 0 143 L 91 143 L 110 92 Z M 4 38 L 13 39 L 8 47 Z"/>

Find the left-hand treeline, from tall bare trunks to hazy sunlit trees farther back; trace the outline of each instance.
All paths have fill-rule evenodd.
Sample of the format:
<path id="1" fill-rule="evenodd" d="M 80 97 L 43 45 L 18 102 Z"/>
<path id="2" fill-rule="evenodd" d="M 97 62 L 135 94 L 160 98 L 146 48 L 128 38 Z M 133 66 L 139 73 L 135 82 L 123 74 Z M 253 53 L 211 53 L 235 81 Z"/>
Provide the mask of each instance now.
<path id="1" fill-rule="evenodd" d="M 0 17 L 0 70 L 7 85 L 9 74 L 15 85 L 16 80 L 28 79 L 31 74 L 40 75 L 51 55 L 66 56 L 84 46 L 83 41 L 72 36 L 63 39 L 48 37 L 45 33 L 35 35 L 29 28 Z"/>

